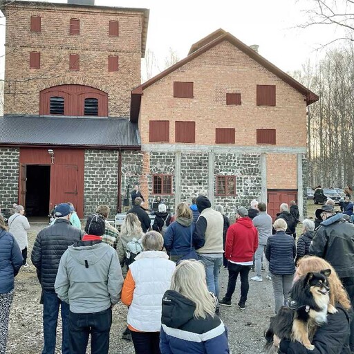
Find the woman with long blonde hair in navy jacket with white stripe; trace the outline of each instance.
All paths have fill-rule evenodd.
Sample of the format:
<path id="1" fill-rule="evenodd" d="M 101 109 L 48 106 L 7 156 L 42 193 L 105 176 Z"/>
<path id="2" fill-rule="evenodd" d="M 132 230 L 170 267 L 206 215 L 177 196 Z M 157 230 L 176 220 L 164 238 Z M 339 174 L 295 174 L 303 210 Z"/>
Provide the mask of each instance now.
<path id="1" fill-rule="evenodd" d="M 225 325 L 215 315 L 203 263 L 181 261 L 162 298 L 161 353 L 230 353 Z"/>

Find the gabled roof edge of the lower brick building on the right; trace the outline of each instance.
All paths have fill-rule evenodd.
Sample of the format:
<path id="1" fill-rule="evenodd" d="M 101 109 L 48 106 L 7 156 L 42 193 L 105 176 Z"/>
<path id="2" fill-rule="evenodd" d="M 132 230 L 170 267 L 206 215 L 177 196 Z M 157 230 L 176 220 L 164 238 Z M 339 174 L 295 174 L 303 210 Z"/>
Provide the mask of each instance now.
<path id="1" fill-rule="evenodd" d="M 152 77 L 150 80 L 144 82 L 137 88 L 134 88 L 133 91 L 131 91 L 131 122 L 138 122 L 141 96 L 145 88 L 155 84 L 155 82 L 158 82 L 163 77 L 169 75 L 170 73 L 173 73 L 181 66 L 187 64 L 188 62 L 191 62 L 199 55 L 205 53 L 207 50 L 213 48 L 214 46 L 217 46 L 223 41 L 229 41 L 232 45 L 236 46 L 236 48 L 239 48 L 239 50 L 241 50 L 243 53 L 254 59 L 259 64 L 261 64 L 261 66 L 266 68 L 274 75 L 277 75 L 277 77 L 292 86 L 292 88 L 295 88 L 295 90 L 299 91 L 299 93 L 305 96 L 307 105 L 312 104 L 313 102 L 317 102 L 319 100 L 319 97 L 315 93 L 310 91 L 304 85 L 300 84 L 297 80 L 292 78 L 284 71 L 281 71 L 281 69 L 279 69 L 271 62 L 268 62 L 267 59 L 259 55 L 259 53 L 257 53 L 255 50 L 244 44 L 242 41 L 240 41 L 233 35 L 231 35 L 229 32 L 225 32 L 225 30 L 220 28 L 215 32 L 212 32 L 207 37 L 204 37 L 200 41 L 197 41 L 195 44 L 193 44 L 192 48 L 189 50 L 189 55 L 185 57 L 185 59 L 180 60 L 180 62 L 170 66 L 165 71 L 162 71 L 162 73 L 156 75 L 155 77 Z"/>

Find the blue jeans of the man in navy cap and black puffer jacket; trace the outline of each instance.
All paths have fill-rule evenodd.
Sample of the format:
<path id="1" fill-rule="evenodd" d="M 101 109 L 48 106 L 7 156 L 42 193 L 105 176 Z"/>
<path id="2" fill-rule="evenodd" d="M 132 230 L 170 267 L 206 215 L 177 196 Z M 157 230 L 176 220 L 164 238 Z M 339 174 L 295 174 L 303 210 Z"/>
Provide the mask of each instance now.
<path id="1" fill-rule="evenodd" d="M 68 315 L 69 306 L 62 302 L 54 291 L 43 290 L 43 335 L 42 354 L 54 354 L 57 338 L 59 306 L 62 310 L 62 354 L 69 354 Z"/>

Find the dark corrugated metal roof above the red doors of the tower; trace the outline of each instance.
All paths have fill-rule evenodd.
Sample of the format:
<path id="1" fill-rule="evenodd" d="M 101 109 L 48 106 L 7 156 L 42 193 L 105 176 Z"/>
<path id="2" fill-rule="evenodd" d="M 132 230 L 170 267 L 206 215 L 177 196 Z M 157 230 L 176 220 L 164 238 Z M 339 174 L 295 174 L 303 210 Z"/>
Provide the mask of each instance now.
<path id="1" fill-rule="evenodd" d="M 127 118 L 0 117 L 0 145 L 140 147 L 138 124 Z"/>

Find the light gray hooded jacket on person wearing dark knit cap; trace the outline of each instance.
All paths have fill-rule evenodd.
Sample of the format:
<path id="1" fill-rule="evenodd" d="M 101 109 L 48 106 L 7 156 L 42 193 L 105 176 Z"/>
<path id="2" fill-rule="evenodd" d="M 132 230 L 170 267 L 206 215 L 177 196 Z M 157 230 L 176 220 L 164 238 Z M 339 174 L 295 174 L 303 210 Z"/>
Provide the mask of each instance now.
<path id="1" fill-rule="evenodd" d="M 60 260 L 55 292 L 73 313 L 97 313 L 118 303 L 122 269 L 115 250 L 101 241 L 79 241 Z"/>

